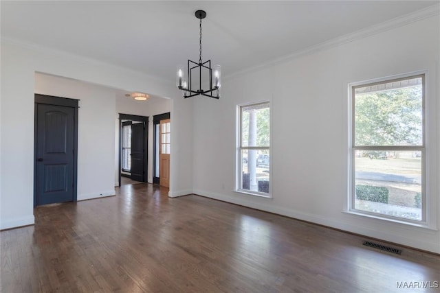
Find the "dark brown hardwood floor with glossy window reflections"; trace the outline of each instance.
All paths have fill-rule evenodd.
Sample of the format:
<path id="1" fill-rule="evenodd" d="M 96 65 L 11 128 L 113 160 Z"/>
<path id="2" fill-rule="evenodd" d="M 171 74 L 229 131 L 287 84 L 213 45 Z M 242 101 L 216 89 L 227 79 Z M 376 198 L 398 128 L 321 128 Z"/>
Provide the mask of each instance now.
<path id="1" fill-rule="evenodd" d="M 435 287 L 438 255 L 394 255 L 356 235 L 167 194 L 142 183 L 36 208 L 34 226 L 0 233 L 0 291 L 439 292 L 408 288 Z"/>

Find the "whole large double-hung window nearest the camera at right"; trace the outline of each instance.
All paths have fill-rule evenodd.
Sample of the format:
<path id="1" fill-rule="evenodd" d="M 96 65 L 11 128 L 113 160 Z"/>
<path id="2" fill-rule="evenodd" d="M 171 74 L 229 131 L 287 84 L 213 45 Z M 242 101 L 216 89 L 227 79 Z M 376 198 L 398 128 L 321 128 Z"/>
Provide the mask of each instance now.
<path id="1" fill-rule="evenodd" d="M 426 222 L 424 82 L 351 86 L 351 211 Z"/>

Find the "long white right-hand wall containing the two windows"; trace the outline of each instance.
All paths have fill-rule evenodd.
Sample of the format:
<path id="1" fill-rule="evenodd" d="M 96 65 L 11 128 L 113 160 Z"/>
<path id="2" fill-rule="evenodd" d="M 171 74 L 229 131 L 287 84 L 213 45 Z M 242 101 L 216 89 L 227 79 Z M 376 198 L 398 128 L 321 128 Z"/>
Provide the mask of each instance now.
<path id="1" fill-rule="evenodd" d="M 440 253 L 438 230 L 342 212 L 348 84 L 427 70 L 427 182 L 439 227 L 439 52 L 437 15 L 223 80 L 219 101 L 195 102 L 195 193 Z M 236 105 L 261 99 L 272 102 L 273 199 L 233 191 Z"/>

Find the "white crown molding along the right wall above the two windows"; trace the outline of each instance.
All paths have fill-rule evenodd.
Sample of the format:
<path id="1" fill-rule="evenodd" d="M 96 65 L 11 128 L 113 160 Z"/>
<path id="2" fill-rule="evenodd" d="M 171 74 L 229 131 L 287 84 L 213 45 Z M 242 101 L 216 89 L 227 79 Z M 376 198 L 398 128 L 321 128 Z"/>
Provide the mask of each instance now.
<path id="1" fill-rule="evenodd" d="M 256 65 L 254 67 L 249 67 L 248 69 L 243 69 L 241 71 L 236 71 L 234 73 L 224 75 L 222 78 L 223 78 L 223 80 L 228 80 L 231 78 L 239 77 L 240 75 L 244 75 L 246 73 L 260 71 L 262 69 L 266 69 L 268 67 L 273 67 L 275 65 L 280 65 L 284 62 L 289 62 L 289 61 L 295 60 L 295 59 L 303 57 L 303 56 L 316 54 L 320 51 L 324 51 L 327 49 L 331 49 L 333 47 L 338 47 L 340 45 L 351 43 L 355 40 L 360 40 L 360 39 L 366 38 L 368 36 L 373 36 L 375 34 L 380 34 L 382 32 L 386 32 L 388 30 L 393 30 L 397 27 L 402 27 L 404 25 L 408 25 L 410 23 L 415 23 L 415 22 L 421 21 L 423 19 L 428 19 L 432 16 L 438 16 L 439 14 L 440 14 L 440 3 L 431 5 L 427 8 L 422 9 L 422 10 L 417 10 L 416 12 L 412 12 L 410 14 L 399 16 L 395 19 L 391 19 L 391 20 L 385 21 L 383 23 L 378 23 L 377 25 L 372 25 L 371 27 L 367 27 L 364 30 L 359 30 L 358 32 L 345 34 L 344 36 L 340 36 L 338 38 L 333 38 L 333 39 L 328 40 L 324 43 L 319 43 L 317 45 L 307 47 L 306 49 L 296 51 L 292 54 L 287 54 L 285 56 L 281 56 L 280 58 L 276 58 L 274 60 L 263 62 L 260 65 Z"/>

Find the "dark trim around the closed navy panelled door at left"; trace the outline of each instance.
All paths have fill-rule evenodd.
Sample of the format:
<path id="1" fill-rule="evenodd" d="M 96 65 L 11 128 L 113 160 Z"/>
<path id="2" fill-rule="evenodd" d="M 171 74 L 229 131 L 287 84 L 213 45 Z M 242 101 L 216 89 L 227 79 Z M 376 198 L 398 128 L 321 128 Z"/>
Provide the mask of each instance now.
<path id="1" fill-rule="evenodd" d="M 54 106 L 64 106 L 74 108 L 74 182 L 73 193 L 74 202 L 78 198 L 78 102 L 79 99 L 67 97 L 56 97 L 54 95 L 34 94 L 34 207 L 36 207 L 36 124 L 37 110 L 39 104 L 48 104 Z"/>

